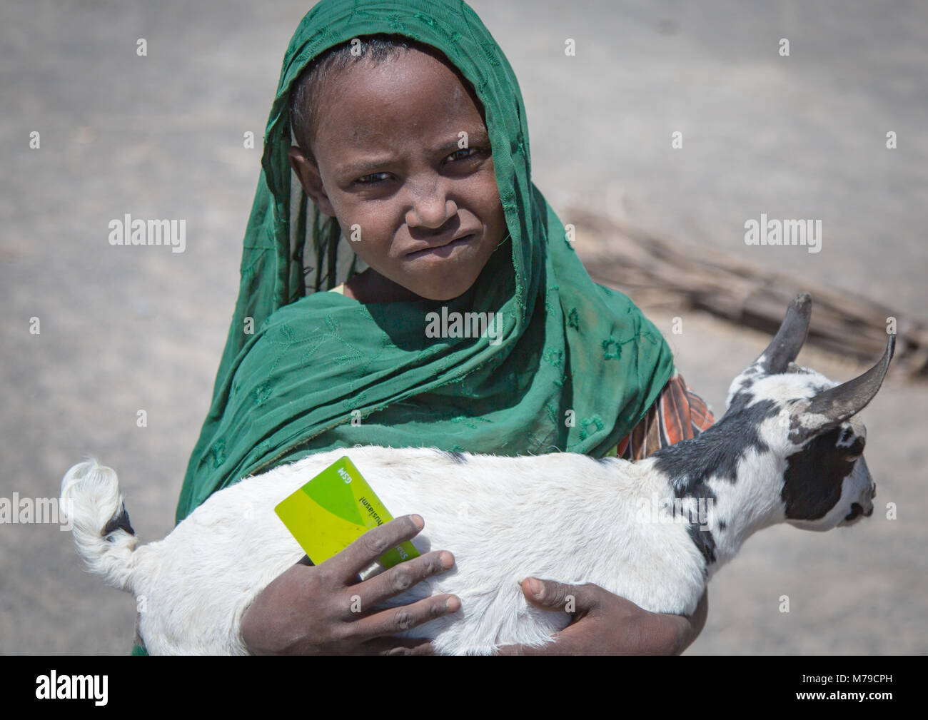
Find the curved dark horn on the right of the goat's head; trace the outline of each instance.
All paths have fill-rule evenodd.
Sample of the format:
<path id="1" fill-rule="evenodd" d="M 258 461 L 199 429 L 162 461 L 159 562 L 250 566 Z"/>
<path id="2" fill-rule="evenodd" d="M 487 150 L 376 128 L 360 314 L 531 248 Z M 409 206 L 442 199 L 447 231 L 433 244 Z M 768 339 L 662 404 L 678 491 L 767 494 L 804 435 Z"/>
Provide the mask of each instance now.
<path id="1" fill-rule="evenodd" d="M 795 444 L 805 443 L 813 435 L 840 425 L 863 410 L 880 390 L 895 350 L 896 335 L 890 335 L 883 357 L 863 375 L 796 405 L 790 425 L 790 440 Z"/>

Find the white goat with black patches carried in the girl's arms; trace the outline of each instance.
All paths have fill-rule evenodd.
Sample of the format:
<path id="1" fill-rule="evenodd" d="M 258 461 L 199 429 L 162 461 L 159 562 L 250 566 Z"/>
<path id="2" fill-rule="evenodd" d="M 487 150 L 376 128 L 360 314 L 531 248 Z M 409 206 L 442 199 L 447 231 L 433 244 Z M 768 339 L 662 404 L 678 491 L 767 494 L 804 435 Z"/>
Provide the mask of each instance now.
<path id="1" fill-rule="evenodd" d="M 333 450 L 213 494 L 166 538 L 138 549 L 111 469 L 93 460 L 71 468 L 62 507 L 71 508 L 89 569 L 145 599 L 137 632 L 152 654 L 246 653 L 242 614 L 303 556 L 274 508 L 345 454 L 386 508 L 425 518 L 413 540 L 419 551 L 455 555 L 454 569 L 390 603 L 456 594 L 458 612 L 406 633 L 432 638 L 440 653 L 549 642 L 571 616 L 529 605 L 517 581 L 530 575 L 594 583 L 649 611 L 690 614 L 754 532 L 782 521 L 825 531 L 873 512 L 876 486 L 857 413 L 883 382 L 895 336 L 875 366 L 839 385 L 793 362 L 810 313 L 808 294 L 797 296 L 764 353 L 732 381 L 714 426 L 638 462 Z M 690 518 L 655 513 L 655 503 Z"/>

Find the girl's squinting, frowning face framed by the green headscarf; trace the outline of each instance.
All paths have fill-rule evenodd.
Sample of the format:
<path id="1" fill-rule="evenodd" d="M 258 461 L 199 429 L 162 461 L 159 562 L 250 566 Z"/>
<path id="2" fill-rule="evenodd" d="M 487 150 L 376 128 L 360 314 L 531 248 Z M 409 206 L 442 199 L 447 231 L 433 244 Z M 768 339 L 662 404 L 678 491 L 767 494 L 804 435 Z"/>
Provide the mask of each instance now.
<path id="1" fill-rule="evenodd" d="M 470 289 L 506 218 L 480 109 L 455 72 L 404 50 L 380 65 L 361 58 L 319 97 L 317 164 L 299 148 L 290 164 L 375 274 L 367 302 Z"/>

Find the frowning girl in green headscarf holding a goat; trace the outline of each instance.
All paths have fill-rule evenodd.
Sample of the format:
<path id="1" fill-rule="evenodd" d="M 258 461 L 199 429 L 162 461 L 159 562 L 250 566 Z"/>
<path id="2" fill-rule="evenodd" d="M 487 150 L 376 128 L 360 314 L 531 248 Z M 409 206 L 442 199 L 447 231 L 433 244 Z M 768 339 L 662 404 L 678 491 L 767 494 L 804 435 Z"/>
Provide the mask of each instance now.
<path id="1" fill-rule="evenodd" d="M 519 86 L 462 2 L 315 6 L 284 57 L 262 167 L 178 522 L 227 484 L 336 447 L 638 458 L 712 423 L 661 333 L 592 282 L 532 185 Z M 492 318 L 480 337 L 427 332 L 469 313 Z M 245 613 L 246 646 L 428 652 L 391 634 L 458 598 L 348 610 L 452 567 L 433 550 L 359 582 L 421 527 L 399 518 L 285 572 Z M 543 607 L 574 596 L 577 619 L 542 651 L 679 652 L 704 623 L 704 597 L 690 619 L 555 581 L 522 584 Z"/>

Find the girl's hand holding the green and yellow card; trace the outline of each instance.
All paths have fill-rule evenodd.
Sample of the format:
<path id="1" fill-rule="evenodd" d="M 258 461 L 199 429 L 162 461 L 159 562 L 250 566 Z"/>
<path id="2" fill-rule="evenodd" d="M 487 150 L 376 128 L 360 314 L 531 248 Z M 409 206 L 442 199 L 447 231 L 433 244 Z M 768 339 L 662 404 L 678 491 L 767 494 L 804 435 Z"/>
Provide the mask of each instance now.
<path id="1" fill-rule="evenodd" d="M 460 599 L 436 595 L 389 610 L 367 609 L 450 569 L 454 556 L 434 550 L 364 582 L 357 576 L 424 526 L 419 515 L 405 515 L 368 531 L 319 565 L 301 560 L 267 585 L 245 611 L 243 644 L 254 655 L 431 654 L 427 639 L 391 636 L 457 611 Z"/>

